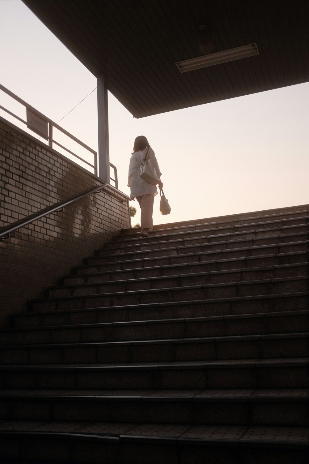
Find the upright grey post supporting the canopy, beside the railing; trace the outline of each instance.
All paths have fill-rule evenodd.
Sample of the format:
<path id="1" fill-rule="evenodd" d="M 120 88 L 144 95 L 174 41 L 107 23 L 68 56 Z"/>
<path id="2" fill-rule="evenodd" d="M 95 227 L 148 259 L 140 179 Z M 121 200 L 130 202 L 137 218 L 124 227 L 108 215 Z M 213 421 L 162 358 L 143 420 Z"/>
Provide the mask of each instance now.
<path id="1" fill-rule="evenodd" d="M 107 78 L 97 78 L 98 92 L 98 176 L 110 184 L 109 174 L 109 141 L 108 141 L 108 104 Z"/>

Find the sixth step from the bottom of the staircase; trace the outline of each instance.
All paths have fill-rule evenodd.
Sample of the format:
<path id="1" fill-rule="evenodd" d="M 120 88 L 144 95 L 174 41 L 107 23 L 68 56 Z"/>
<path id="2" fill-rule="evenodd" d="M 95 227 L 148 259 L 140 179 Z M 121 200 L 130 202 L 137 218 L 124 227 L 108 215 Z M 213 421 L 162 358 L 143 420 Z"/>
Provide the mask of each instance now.
<path id="1" fill-rule="evenodd" d="M 84 308 L 82 304 L 76 307 L 73 299 L 72 301 L 65 300 L 64 304 L 60 302 L 59 306 L 57 305 L 57 311 L 55 311 L 55 304 L 52 300 L 51 305 L 48 301 L 41 304 L 37 312 L 16 313 L 13 316 L 13 323 L 16 327 L 38 327 L 299 311 L 309 309 L 308 296 L 309 292 L 293 292 L 157 304 L 115 305 L 104 308 Z"/>

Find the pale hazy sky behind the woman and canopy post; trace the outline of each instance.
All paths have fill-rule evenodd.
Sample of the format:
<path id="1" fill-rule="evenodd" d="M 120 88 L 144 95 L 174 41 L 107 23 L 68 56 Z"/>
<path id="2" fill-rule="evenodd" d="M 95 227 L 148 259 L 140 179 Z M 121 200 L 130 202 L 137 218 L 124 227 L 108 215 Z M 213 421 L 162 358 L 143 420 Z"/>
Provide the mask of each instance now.
<path id="1" fill-rule="evenodd" d="M 20 0 L 0 0 L 0 43 L 0 84 L 54 122 L 96 87 L 95 77 Z M 0 104 L 25 119 L 25 110 L 1 91 Z M 95 90 L 59 123 L 95 150 L 96 104 Z M 160 214 L 158 195 L 154 224 L 309 203 L 309 83 L 142 119 L 110 93 L 108 104 L 119 189 L 129 194 L 137 135 L 147 137 L 157 156 L 172 210 Z M 138 210 L 134 225 L 139 205 L 131 205 Z"/>

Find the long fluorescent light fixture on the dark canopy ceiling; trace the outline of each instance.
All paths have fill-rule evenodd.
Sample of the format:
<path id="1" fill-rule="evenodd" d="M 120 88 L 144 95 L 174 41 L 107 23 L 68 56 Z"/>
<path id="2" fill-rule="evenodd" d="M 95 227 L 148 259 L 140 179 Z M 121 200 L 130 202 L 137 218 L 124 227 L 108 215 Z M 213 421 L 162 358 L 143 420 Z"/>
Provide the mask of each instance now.
<path id="1" fill-rule="evenodd" d="M 233 61 L 235 59 L 252 57 L 254 55 L 259 55 L 257 44 L 243 45 L 242 47 L 223 50 L 223 52 L 186 59 L 184 61 L 178 61 L 176 64 L 180 72 L 187 72 L 213 66 L 214 64 L 226 63 L 227 61 Z"/>

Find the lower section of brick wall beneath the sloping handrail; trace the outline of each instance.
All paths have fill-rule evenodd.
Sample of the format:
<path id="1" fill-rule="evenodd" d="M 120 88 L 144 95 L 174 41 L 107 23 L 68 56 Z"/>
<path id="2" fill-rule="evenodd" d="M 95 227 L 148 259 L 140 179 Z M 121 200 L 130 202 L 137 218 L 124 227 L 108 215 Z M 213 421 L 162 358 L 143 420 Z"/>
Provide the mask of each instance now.
<path id="1" fill-rule="evenodd" d="M 65 177 L 62 181 L 66 185 Z M 83 258 L 119 232 L 123 225 L 108 217 L 103 206 L 107 202 L 113 200 L 105 193 L 92 194 L 13 232 L 0 243 L 6 271 L 1 291 L 2 326 L 7 325 L 9 313 L 26 310 L 27 300 L 43 297 L 44 287 L 57 285 L 58 277 L 82 264 Z"/>

